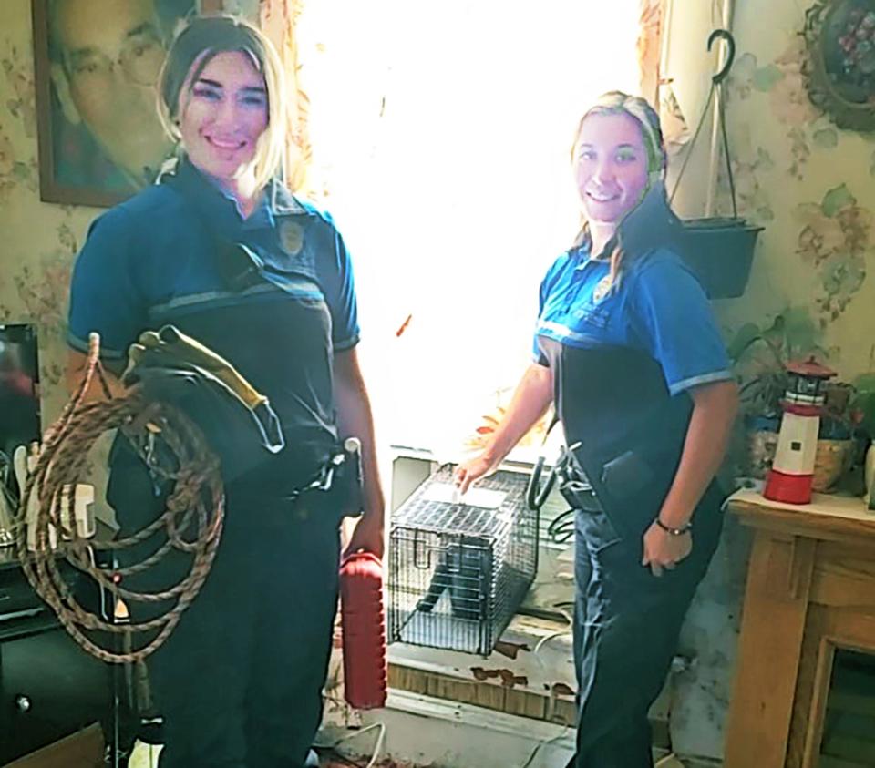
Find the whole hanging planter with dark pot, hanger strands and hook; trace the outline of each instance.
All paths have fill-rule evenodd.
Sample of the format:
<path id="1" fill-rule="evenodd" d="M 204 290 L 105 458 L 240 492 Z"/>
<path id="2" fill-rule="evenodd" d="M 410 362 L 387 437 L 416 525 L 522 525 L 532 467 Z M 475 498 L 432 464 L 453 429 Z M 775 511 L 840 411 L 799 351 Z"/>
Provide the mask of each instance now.
<path id="1" fill-rule="evenodd" d="M 715 29 L 711 33 L 708 37 L 708 50 L 711 50 L 711 46 L 718 38 L 726 40 L 728 46 L 726 64 L 711 78 L 711 90 L 705 101 L 705 109 L 702 112 L 702 118 L 699 119 L 698 126 L 695 128 L 695 134 L 690 142 L 684 165 L 674 182 L 672 200 L 674 200 L 674 194 L 684 176 L 686 164 L 692 156 L 693 145 L 705 123 L 705 116 L 711 106 L 711 101 L 715 92 L 722 89 L 723 81 L 729 74 L 729 68 L 732 67 L 733 59 L 736 56 L 735 39 L 725 29 Z M 695 271 L 710 298 L 735 299 L 745 292 L 757 244 L 757 235 L 763 230 L 763 227 L 748 223 L 738 216 L 736 185 L 729 158 L 729 140 L 726 137 L 726 116 L 722 109 L 723 103 L 722 98 L 718 99 L 715 108 L 718 109 L 720 132 L 723 136 L 726 178 L 729 181 L 729 190 L 732 196 L 733 215 L 732 217 L 681 220 L 682 229 L 677 235 L 675 247 Z"/>

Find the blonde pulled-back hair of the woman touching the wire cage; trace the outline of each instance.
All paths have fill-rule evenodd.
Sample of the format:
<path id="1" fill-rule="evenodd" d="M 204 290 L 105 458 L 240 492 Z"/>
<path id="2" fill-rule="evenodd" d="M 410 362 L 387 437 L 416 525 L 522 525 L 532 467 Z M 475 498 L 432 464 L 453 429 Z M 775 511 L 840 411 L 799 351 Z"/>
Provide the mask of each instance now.
<path id="1" fill-rule="evenodd" d="M 623 91 L 608 91 L 598 97 L 595 104 L 583 113 L 582 118 L 578 120 L 577 130 L 574 132 L 574 141 L 571 144 L 571 162 L 576 161 L 575 150 L 577 148 L 578 139 L 581 136 L 583 121 L 591 115 L 628 115 L 638 124 L 641 129 L 641 137 L 643 139 L 644 149 L 647 152 L 647 185 L 643 189 L 642 198 L 654 188 L 661 188 L 664 197 L 665 189 L 665 166 L 667 164 L 667 156 L 665 153 L 665 144 L 663 140 L 663 131 L 659 124 L 659 116 L 642 97 L 629 96 Z M 623 248 L 623 224 L 629 220 L 633 211 L 637 210 L 641 204 L 641 200 L 632 210 L 626 212 L 620 227 L 617 229 L 617 235 L 613 250 L 611 251 L 611 271 L 609 275 L 610 285 L 613 286 L 620 281 L 623 269 L 623 259 L 626 255 L 626 250 Z M 574 238 L 573 248 L 581 246 L 591 246 L 592 236 L 590 234 L 589 221 L 581 213 L 580 230 Z"/>

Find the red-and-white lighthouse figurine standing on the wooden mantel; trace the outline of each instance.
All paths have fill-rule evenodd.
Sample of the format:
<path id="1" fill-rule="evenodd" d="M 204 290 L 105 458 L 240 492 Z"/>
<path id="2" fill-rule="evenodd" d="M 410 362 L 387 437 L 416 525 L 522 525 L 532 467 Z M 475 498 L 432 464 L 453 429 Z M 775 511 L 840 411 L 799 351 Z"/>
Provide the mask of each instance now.
<path id="1" fill-rule="evenodd" d="M 787 364 L 789 382 L 781 403 L 784 416 L 764 497 L 787 504 L 808 504 L 811 500 L 820 414 L 826 399 L 823 388 L 834 375 L 835 371 L 813 357 Z"/>

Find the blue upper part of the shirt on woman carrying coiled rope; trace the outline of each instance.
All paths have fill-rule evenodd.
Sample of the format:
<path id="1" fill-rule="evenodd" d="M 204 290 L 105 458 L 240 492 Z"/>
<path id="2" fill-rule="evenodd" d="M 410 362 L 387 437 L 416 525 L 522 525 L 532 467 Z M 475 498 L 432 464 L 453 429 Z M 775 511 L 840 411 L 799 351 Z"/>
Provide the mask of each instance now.
<path id="1" fill-rule="evenodd" d="M 331 217 L 272 182 L 243 220 L 232 198 L 183 160 L 167 183 L 106 211 L 88 230 L 70 294 L 70 346 L 124 358 L 139 333 L 207 308 L 271 302 L 289 296 L 324 300 L 335 350 L 358 341 L 353 271 Z M 264 285 L 231 292 L 215 263 L 214 230 L 242 242 L 260 261 Z"/>

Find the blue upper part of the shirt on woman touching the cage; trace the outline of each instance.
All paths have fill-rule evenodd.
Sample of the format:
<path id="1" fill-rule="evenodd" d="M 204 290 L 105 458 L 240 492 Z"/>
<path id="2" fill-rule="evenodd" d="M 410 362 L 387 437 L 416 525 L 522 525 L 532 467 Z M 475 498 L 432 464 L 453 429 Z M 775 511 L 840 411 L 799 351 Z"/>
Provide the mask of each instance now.
<path id="1" fill-rule="evenodd" d="M 544 343 L 627 347 L 662 368 L 670 394 L 732 378 L 726 347 L 700 283 L 664 248 L 631 260 L 608 289 L 608 261 L 586 247 L 563 253 L 540 285 L 535 360 L 550 364 Z"/>

